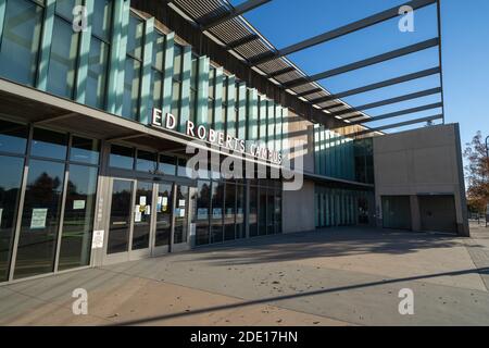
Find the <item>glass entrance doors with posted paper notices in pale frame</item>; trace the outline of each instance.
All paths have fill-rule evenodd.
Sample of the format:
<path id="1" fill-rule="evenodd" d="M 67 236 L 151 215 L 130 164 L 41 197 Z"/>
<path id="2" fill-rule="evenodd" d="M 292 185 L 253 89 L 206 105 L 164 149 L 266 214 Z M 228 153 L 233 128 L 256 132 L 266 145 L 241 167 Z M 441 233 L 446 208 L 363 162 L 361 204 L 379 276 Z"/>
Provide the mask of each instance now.
<path id="1" fill-rule="evenodd" d="M 103 264 L 188 248 L 189 188 L 175 183 L 110 179 Z"/>

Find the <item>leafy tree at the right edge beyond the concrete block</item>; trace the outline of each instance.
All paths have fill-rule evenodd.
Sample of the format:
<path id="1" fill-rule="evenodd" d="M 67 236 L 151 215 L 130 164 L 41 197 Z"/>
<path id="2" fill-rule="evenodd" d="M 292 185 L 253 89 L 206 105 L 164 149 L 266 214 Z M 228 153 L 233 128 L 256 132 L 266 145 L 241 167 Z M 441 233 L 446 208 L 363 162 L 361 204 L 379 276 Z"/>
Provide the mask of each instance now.
<path id="1" fill-rule="evenodd" d="M 466 145 L 464 157 L 468 161 L 465 166 L 468 209 L 484 213 L 489 203 L 489 158 L 481 132 L 477 132 L 472 142 Z"/>

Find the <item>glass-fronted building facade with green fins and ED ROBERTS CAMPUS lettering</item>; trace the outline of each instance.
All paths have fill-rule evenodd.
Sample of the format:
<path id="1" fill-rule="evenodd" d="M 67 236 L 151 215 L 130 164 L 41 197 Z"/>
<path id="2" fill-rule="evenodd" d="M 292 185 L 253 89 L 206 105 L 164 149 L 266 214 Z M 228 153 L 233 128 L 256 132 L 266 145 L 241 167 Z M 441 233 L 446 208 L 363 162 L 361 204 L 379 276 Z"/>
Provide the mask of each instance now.
<path id="1" fill-rule="evenodd" d="M 0 0 L 0 283 L 375 224 L 373 140 L 349 136 L 363 128 L 313 122 L 151 3 Z M 220 163 L 251 151 L 252 178 L 189 177 L 196 138 Z M 285 160 L 301 190 L 271 177 Z"/>

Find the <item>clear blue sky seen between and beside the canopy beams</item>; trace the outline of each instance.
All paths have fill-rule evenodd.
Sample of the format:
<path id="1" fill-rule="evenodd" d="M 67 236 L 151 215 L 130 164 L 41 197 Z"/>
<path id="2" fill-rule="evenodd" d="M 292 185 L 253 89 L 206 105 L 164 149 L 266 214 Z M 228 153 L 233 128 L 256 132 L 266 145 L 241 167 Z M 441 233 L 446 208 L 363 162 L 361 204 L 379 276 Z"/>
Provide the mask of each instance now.
<path id="1" fill-rule="evenodd" d="M 238 4 L 243 0 L 231 0 Z M 405 3 L 405 0 L 273 0 L 251 11 L 244 17 L 278 49 L 303 39 L 358 21 L 386 9 Z M 489 1 L 441 0 L 442 57 L 447 123 L 461 124 L 463 145 L 477 130 L 489 135 Z M 437 35 L 436 5 L 415 12 L 415 32 L 401 33 L 399 18 L 289 55 L 308 74 L 352 63 L 408 45 L 427 40 Z M 375 82 L 417 72 L 438 65 L 438 48 L 380 63 L 319 83 L 331 92 L 340 92 Z M 383 88 L 344 100 L 352 105 L 384 100 L 409 92 L 439 86 L 437 75 L 398 86 Z M 419 98 L 393 105 L 371 109 L 371 115 L 408 109 L 441 100 L 440 95 Z M 434 109 L 391 119 L 402 122 L 437 114 Z M 368 123 L 380 126 L 385 122 Z M 419 125 L 416 125 L 419 126 Z M 412 128 L 412 126 L 389 132 Z"/>

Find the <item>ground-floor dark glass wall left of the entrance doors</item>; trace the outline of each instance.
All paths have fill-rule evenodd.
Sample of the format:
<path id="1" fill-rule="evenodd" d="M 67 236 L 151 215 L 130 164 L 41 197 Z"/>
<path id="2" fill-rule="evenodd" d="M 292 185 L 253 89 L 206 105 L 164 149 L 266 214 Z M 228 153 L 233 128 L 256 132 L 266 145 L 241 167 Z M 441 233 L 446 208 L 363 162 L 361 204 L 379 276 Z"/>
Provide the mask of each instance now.
<path id="1" fill-rule="evenodd" d="M 99 147 L 85 137 L 0 121 L 0 282 L 9 273 L 17 279 L 89 265 Z"/>

